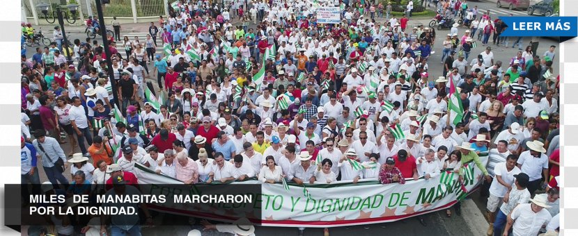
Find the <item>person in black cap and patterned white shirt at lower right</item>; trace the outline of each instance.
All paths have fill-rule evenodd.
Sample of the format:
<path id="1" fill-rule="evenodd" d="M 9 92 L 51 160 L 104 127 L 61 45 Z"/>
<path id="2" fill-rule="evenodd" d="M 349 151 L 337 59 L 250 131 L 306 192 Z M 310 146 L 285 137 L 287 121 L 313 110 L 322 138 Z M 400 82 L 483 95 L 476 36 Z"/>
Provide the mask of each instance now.
<path id="1" fill-rule="evenodd" d="M 510 218 L 510 213 L 513 212 L 517 206 L 527 203 L 530 200 L 530 192 L 526 188 L 529 183 L 529 176 L 524 173 L 524 171 L 520 172 L 519 174 L 513 175 L 514 184 L 508 191 L 504 194 L 503 197 L 503 204 L 499 208 L 498 214 L 496 216 L 496 220 L 494 221 L 494 236 L 502 235 L 502 229 L 506 225 L 508 218 Z M 546 214 L 549 213 L 546 211 Z M 510 225 L 511 226 L 511 225 Z M 542 224 L 540 224 L 541 227 Z M 508 227 L 504 232 L 506 234 L 509 231 Z M 488 232 L 490 233 L 490 232 Z M 524 234 L 522 234 L 524 235 Z"/>

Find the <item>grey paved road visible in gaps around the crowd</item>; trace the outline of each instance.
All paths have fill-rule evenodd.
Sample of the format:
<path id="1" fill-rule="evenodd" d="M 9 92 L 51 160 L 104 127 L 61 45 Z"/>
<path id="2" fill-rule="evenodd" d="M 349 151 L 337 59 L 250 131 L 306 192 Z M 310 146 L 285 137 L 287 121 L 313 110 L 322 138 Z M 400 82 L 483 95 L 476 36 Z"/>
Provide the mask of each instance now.
<path id="1" fill-rule="evenodd" d="M 490 8 L 490 10 L 492 10 L 492 12 L 499 12 L 501 15 L 506 15 L 510 12 L 508 9 L 506 8 L 501 8 L 499 10 L 495 10 L 495 3 L 490 3 L 490 2 L 471 2 L 471 5 L 478 5 L 478 7 L 480 9 L 485 9 L 485 8 Z M 514 11 L 517 12 L 517 11 Z M 518 12 L 520 14 L 518 15 L 525 15 L 525 12 Z M 524 14 L 521 14 L 524 13 Z M 430 19 L 420 19 L 420 20 L 410 20 L 409 21 L 409 26 L 413 27 L 414 25 L 417 24 L 427 24 L 430 21 Z M 463 32 L 465 31 L 465 28 L 460 28 L 458 35 L 462 35 Z M 448 33 L 448 30 L 442 30 L 442 31 L 437 31 L 439 36 L 442 37 L 437 37 L 435 40 L 435 45 L 437 45 L 433 50 L 436 51 L 436 53 L 434 53 L 432 56 L 430 56 L 430 74 L 432 74 L 432 79 L 437 78 L 437 76 L 441 76 L 442 75 L 442 66 L 441 64 L 439 64 L 439 61 L 441 60 L 441 56 L 442 56 L 442 49 L 439 45 L 442 44 L 442 41 L 444 40 L 443 35 L 446 35 L 446 33 Z M 130 36 L 130 38 L 132 39 L 135 35 L 139 36 L 139 38 L 143 38 L 144 35 L 146 35 L 146 33 L 122 33 L 121 35 L 128 35 Z M 73 41 L 76 38 L 79 38 L 81 40 L 84 40 L 84 38 L 86 37 L 86 35 L 84 34 L 79 34 L 79 33 L 72 33 L 69 36 L 71 38 L 71 41 Z M 529 39 L 525 39 L 526 41 L 524 42 L 524 44 L 529 44 Z M 491 42 L 491 41 L 490 41 Z M 510 45 L 511 45 L 512 39 L 510 39 Z M 542 39 L 540 40 L 540 47 L 538 48 L 538 54 L 542 55 L 547 48 L 549 47 L 549 45 L 551 44 L 555 44 L 557 45 L 558 42 L 554 42 L 553 40 L 549 40 L 549 39 Z M 495 47 L 494 45 L 490 45 L 492 46 L 494 49 L 492 51 L 494 51 L 494 60 L 502 60 L 505 63 L 508 63 L 510 58 L 512 58 L 513 56 L 515 56 L 515 53 L 517 51 L 517 49 L 512 49 L 511 47 L 505 48 L 505 47 Z M 476 49 L 472 49 L 471 54 L 470 54 L 470 60 L 471 58 L 474 58 L 478 53 L 481 53 L 485 48 L 483 47 L 478 47 Z M 123 52 L 124 50 L 119 48 L 119 51 Z M 157 49 L 157 51 L 160 51 L 159 49 Z M 33 50 L 31 48 L 29 48 L 28 52 L 27 52 L 28 56 L 31 57 L 33 54 Z M 558 62 L 558 57 L 556 57 L 554 59 L 554 65 L 557 65 Z M 555 70 L 557 70 L 557 68 L 554 68 Z M 70 151 L 70 145 L 68 144 L 64 144 L 63 145 L 64 151 L 65 153 L 68 153 Z M 76 150 L 77 152 L 79 151 L 79 149 L 77 148 Z M 40 166 L 40 164 L 39 164 Z M 45 181 L 46 177 L 45 174 L 43 173 L 44 171 L 42 171 L 42 169 L 40 169 L 40 179 L 41 181 Z M 70 169 L 67 169 L 65 171 L 65 176 L 68 177 L 70 176 Z M 480 208 L 480 210 L 483 210 L 483 205 L 485 205 L 485 199 L 480 199 L 476 196 L 474 196 L 471 200 L 468 201 L 474 201 L 476 203 L 476 205 L 478 205 L 478 208 Z M 469 220 L 469 222 L 466 222 L 467 218 Z M 418 221 L 416 221 L 416 219 L 406 219 L 403 221 L 396 221 L 396 222 L 392 222 L 392 223 L 388 223 L 388 224 L 375 224 L 375 225 L 370 225 L 370 228 L 368 230 L 364 229 L 364 226 L 354 226 L 354 227 L 349 227 L 349 228 L 345 228 L 345 227 L 340 227 L 340 228 L 331 228 L 330 233 L 331 235 L 351 235 L 351 234 L 360 234 L 361 235 L 383 235 L 385 233 L 387 233 L 388 235 L 475 235 L 476 233 L 471 231 L 471 227 L 468 227 L 468 225 L 471 226 L 471 224 L 485 224 L 485 221 L 483 219 L 483 217 L 477 217 L 472 219 L 472 216 L 464 216 L 464 217 L 458 217 L 454 214 L 454 216 L 451 219 L 448 219 L 445 214 L 444 211 L 441 212 L 434 212 L 431 214 L 427 214 L 424 215 L 423 218 L 425 220 L 425 223 L 428 224 L 427 227 L 423 227 L 421 226 L 421 224 L 419 224 Z M 158 217 L 156 217 L 155 221 L 159 221 L 159 223 L 169 223 L 169 222 L 173 222 L 173 221 L 182 221 L 183 217 L 178 217 L 178 219 L 174 219 L 173 217 L 164 217 L 163 214 L 160 214 Z M 478 221 L 475 223 L 472 223 L 471 221 Z M 201 226 L 188 226 L 187 221 L 183 221 L 183 226 L 171 226 L 171 227 L 163 227 L 163 228 L 149 228 L 146 230 L 143 230 L 143 235 L 186 235 L 186 233 L 191 230 L 192 228 L 197 228 L 197 229 L 201 229 Z M 487 224 L 485 224 L 487 227 Z M 297 235 L 297 229 L 295 228 L 271 228 L 271 227 L 258 227 L 256 230 L 257 235 Z M 219 235 L 219 233 L 208 233 L 208 235 Z M 308 228 L 305 231 L 305 235 L 322 235 L 322 229 L 320 228 Z"/>

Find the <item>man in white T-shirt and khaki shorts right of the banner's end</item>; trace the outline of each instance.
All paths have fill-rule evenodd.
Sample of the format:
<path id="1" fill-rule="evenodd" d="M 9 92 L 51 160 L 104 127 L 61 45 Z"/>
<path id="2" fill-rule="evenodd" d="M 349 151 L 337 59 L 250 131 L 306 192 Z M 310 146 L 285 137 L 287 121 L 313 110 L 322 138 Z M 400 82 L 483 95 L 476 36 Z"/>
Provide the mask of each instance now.
<path id="1" fill-rule="evenodd" d="M 505 149 L 505 147 L 506 145 L 503 145 L 503 149 Z M 520 168 L 516 167 L 517 155 L 509 154 L 506 156 L 507 158 L 503 158 L 504 161 L 497 163 L 490 172 L 493 178 L 486 205 L 488 221 L 490 221 L 490 228 L 487 230 L 487 235 L 493 235 L 496 210 L 498 206 L 503 203 L 505 194 L 515 187 L 514 176 L 521 172 Z"/>

